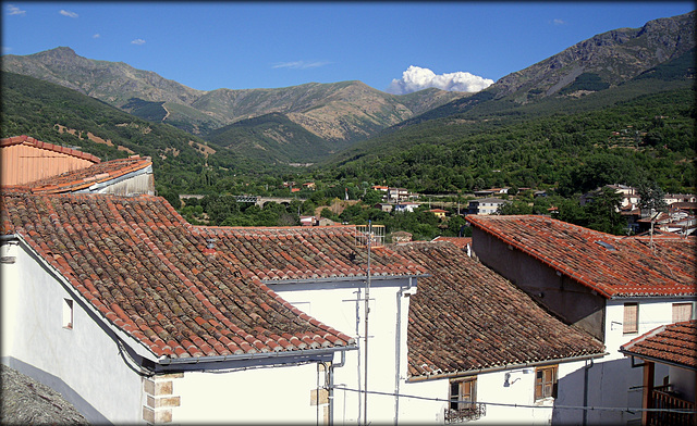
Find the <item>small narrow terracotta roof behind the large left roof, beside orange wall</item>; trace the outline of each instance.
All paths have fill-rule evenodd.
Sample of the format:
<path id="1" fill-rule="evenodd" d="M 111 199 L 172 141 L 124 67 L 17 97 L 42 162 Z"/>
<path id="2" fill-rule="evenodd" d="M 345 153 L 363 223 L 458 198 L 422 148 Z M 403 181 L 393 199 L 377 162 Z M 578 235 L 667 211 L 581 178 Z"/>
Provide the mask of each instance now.
<path id="1" fill-rule="evenodd" d="M 117 179 L 129 173 L 152 165 L 149 156 L 134 155 L 127 159 L 105 161 L 89 167 L 65 172 L 50 178 L 26 184 L 32 192 L 58 193 L 80 191 L 95 184 Z"/>

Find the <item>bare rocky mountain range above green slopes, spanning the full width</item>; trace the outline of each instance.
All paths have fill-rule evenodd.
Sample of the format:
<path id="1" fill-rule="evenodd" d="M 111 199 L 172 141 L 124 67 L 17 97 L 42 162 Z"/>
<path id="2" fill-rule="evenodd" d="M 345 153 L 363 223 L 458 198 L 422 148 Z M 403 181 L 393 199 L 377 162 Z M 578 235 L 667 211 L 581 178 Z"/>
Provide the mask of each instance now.
<path id="1" fill-rule="evenodd" d="M 242 156 L 307 163 L 433 118 L 472 111 L 513 114 L 526 106 L 533 111 L 534 105 L 582 100 L 680 61 L 692 60 L 683 77 L 694 78 L 694 23 L 690 12 L 650 21 L 641 28 L 603 33 L 477 93 L 431 88 L 394 96 L 357 80 L 201 91 L 123 62 L 80 57 L 68 47 L 3 55 L 2 71 L 54 83 L 137 117 L 171 124 Z"/>

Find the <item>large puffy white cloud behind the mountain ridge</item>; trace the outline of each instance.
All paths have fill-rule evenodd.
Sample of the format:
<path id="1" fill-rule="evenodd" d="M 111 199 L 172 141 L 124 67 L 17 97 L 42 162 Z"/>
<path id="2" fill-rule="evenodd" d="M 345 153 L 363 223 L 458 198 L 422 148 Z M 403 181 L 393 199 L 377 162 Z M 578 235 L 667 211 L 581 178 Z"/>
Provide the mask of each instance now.
<path id="1" fill-rule="evenodd" d="M 479 77 L 462 71 L 438 75 L 429 68 L 411 65 L 404 73 L 402 73 L 402 78 L 392 80 L 387 92 L 406 95 L 429 87 L 436 87 L 448 91 L 476 92 L 486 89 L 492 84 L 492 79 Z"/>

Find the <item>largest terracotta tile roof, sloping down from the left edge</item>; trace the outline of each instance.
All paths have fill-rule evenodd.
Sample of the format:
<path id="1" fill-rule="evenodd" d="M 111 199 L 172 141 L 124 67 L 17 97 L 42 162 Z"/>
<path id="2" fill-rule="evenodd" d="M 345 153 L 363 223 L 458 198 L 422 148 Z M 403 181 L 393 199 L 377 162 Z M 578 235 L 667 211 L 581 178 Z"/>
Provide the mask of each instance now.
<path id="1" fill-rule="evenodd" d="M 23 237 L 103 317 L 157 356 L 355 344 L 245 273 L 257 270 L 254 262 L 265 255 L 254 236 L 273 231 L 237 231 L 244 250 L 258 252 L 237 258 L 237 252 L 206 254 L 206 238 L 221 231 L 192 227 L 160 197 L 34 195 L 14 188 L 2 191 L 0 213 L 3 235 Z M 280 235 L 266 243 L 305 245 L 291 240 Z M 333 247 L 326 241 L 326 248 Z M 332 254 L 316 253 L 318 267 L 320 261 L 331 264 L 327 255 Z M 292 258 L 286 266 L 271 261 L 283 271 L 294 264 Z"/>

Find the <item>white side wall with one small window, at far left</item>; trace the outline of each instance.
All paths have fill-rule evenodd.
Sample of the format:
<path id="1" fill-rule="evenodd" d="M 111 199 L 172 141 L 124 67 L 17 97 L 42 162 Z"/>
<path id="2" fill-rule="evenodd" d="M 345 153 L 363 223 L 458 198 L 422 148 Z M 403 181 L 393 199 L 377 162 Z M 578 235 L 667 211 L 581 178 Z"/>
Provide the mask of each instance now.
<path id="1" fill-rule="evenodd" d="M 142 379 L 115 342 L 77 300 L 64 328 L 63 300 L 74 298 L 16 243 L 3 242 L 2 255 L 15 259 L 1 264 L 2 362 L 61 391 L 91 422 L 142 422 Z"/>

